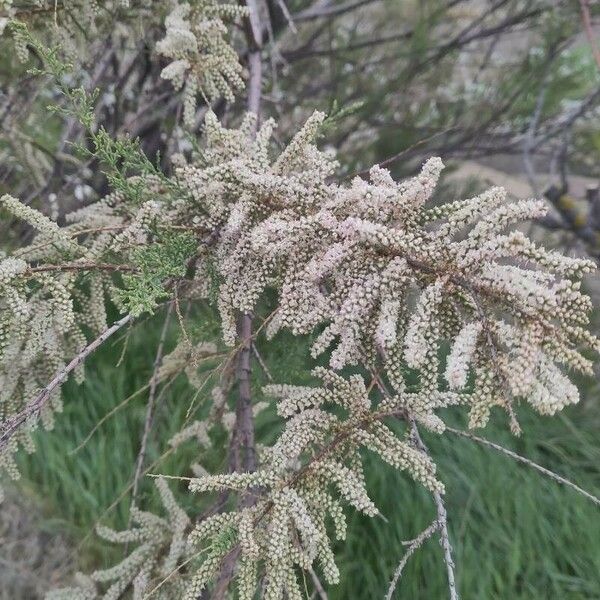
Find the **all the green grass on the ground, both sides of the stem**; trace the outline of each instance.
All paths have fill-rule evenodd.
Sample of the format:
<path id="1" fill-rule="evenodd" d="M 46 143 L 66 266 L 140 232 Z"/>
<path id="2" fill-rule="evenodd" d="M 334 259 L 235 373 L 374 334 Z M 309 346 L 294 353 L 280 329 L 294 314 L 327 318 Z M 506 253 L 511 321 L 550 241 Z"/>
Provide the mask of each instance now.
<path id="1" fill-rule="evenodd" d="M 122 341 L 104 348 L 90 363 L 83 387 L 65 389 L 64 414 L 51 434 L 38 436 L 39 450 L 22 457 L 22 488 L 42 499 L 47 527 L 67 531 L 83 567 L 106 564 L 120 550 L 89 536 L 102 517 L 107 524 L 127 521 L 125 494 L 138 452 L 146 396 L 127 405 L 86 439 L 100 419 L 143 387 L 150 375 L 160 326 L 133 335 L 120 368 Z M 155 326 L 156 325 L 156 326 Z M 305 377 L 304 348 L 291 338 L 264 349 L 276 379 Z M 264 376 L 260 376 L 264 378 Z M 556 418 L 521 412 L 524 435 L 515 440 L 504 420 L 484 432 L 517 452 L 575 480 L 600 495 L 600 404 L 597 390 Z M 176 381 L 161 403 L 149 447 L 149 462 L 183 422 L 189 390 Z M 450 414 L 463 425 L 464 415 Z M 268 415 L 260 424 L 269 431 Z M 585 498 L 510 458 L 472 441 L 452 437 L 426 439 L 447 486 L 447 508 L 455 548 L 458 585 L 464 599 L 600 599 L 600 511 Z M 192 450 L 165 459 L 158 472 L 181 473 Z M 217 460 L 217 459 L 215 459 Z M 349 538 L 338 548 L 342 583 L 330 598 L 383 598 L 403 540 L 415 537 L 434 518 L 428 495 L 408 478 L 368 458 L 369 488 L 384 518 L 350 516 Z M 218 462 L 218 461 L 217 461 Z M 216 463 L 215 463 L 216 464 Z M 150 500 L 150 487 L 144 494 Z M 190 501 L 193 499 L 190 499 Z M 115 553 L 117 552 L 117 553 Z M 409 561 L 396 598 L 437 600 L 447 597 L 441 549 L 432 539 Z"/>

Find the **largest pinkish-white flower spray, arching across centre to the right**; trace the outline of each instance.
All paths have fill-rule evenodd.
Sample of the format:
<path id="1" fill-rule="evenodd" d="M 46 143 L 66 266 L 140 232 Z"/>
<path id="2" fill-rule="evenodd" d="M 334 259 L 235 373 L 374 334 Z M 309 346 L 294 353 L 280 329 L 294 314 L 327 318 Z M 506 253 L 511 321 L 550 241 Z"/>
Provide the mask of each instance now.
<path id="1" fill-rule="evenodd" d="M 209 113 L 202 162 L 177 172 L 194 202 L 176 210 L 218 231 L 205 260 L 222 280 L 227 343 L 235 339 L 238 311 L 252 311 L 275 287 L 279 305 L 268 335 L 325 325 L 314 356 L 333 344 L 334 369 L 383 358 L 398 392 L 403 370 L 416 369 L 429 400 L 413 395 L 412 408 L 429 426 L 440 423 L 427 404 L 471 404 L 471 424 L 483 425 L 494 404 L 512 411 L 514 400 L 534 393 L 542 412 L 576 400 L 575 392 L 557 395 L 545 383 L 547 364 L 589 372 L 578 347 L 585 340 L 597 349 L 598 342 L 585 330 L 591 303 L 578 279 L 594 264 L 506 231 L 541 216 L 543 203 L 510 203 L 494 188 L 429 208 L 443 167 L 437 158 L 409 181 L 396 183 L 374 167 L 370 182 L 337 184 L 330 180 L 335 160 L 314 145 L 322 113 L 275 160 L 274 124 L 264 123 L 254 138 L 253 119 L 225 130 Z M 440 395 L 435 374 L 444 339 L 453 347 L 445 368 L 452 393 Z M 464 391 L 470 368 L 492 374 L 485 397 Z"/>

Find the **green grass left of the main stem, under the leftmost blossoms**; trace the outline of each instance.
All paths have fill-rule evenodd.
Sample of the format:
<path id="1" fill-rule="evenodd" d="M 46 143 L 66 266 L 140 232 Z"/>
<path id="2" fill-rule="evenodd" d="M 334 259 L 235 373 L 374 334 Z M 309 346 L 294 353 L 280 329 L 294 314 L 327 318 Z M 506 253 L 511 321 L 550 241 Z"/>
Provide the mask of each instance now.
<path id="1" fill-rule="evenodd" d="M 114 527 L 124 527 L 128 521 L 128 488 L 134 476 L 148 398 L 144 390 L 135 394 L 151 376 L 161 327 L 160 317 L 148 319 L 108 341 L 87 364 L 85 382 L 79 386 L 70 381 L 64 386 L 64 410 L 56 416 L 54 430 L 38 431 L 37 451 L 18 457 L 21 488 L 42 501 L 52 527 L 67 531 L 75 543 L 84 540 L 84 563 L 108 564 L 115 558 L 113 548 L 98 542 L 95 536 L 86 537 L 99 519 Z M 174 340 L 172 327 L 167 352 Z M 167 441 L 185 422 L 191 401 L 194 399 L 201 410 L 206 395 L 195 398 L 185 377 L 179 376 L 157 398 L 146 466 L 169 449 Z M 193 446 L 188 444 L 162 459 L 155 472 L 189 474 L 189 464 L 195 457 Z M 150 503 L 145 506 L 160 506 L 148 478 L 142 478 L 140 499 Z"/>

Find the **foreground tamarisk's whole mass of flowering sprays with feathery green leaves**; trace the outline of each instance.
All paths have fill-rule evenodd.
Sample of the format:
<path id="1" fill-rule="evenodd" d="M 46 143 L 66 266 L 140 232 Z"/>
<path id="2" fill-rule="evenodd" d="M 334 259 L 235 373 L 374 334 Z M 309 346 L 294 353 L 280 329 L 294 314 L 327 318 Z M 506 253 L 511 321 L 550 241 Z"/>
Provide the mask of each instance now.
<path id="1" fill-rule="evenodd" d="M 399 434 L 386 421 L 416 421 L 442 433 L 442 407 L 467 406 L 476 427 L 500 405 L 517 428 L 521 400 L 543 414 L 577 401 L 561 365 L 591 370 L 579 347 L 598 349 L 585 329 L 590 300 L 580 290 L 592 263 L 546 251 L 512 229 L 542 215 L 541 202 L 507 202 L 496 188 L 430 207 L 439 159 L 405 182 L 376 166 L 369 181 L 338 183 L 331 177 L 334 157 L 315 145 L 323 114 L 315 113 L 276 157 L 275 123 L 266 121 L 253 136 L 255 119 L 249 114 L 239 129 L 225 129 L 207 114 L 201 152 L 189 162 L 176 158 L 172 190 L 185 190 L 181 196 L 161 193 L 149 175 L 147 198 L 109 195 L 71 214 L 63 227 L 2 198 L 5 210 L 38 231 L 0 262 L 5 419 L 84 344 L 84 333 L 105 326 L 105 298 L 139 314 L 168 297 L 170 278 L 190 299 L 210 301 L 216 289 L 226 344 L 234 343 L 238 312 L 255 310 L 269 288 L 278 293 L 269 337 L 283 327 L 297 335 L 317 330 L 313 355 L 332 346 L 330 369 L 314 373 L 322 387 L 264 390 L 280 398 L 285 426 L 272 446 L 257 448 L 256 472 L 203 474 L 189 484 L 194 493 L 233 490 L 252 502 L 192 523 L 159 482 L 169 518 L 136 512 L 140 530 L 100 529 L 110 541 L 138 546 L 114 569 L 85 579 L 81 597 L 117 598 L 131 584 L 141 598 L 169 575 L 162 593 L 196 598 L 232 556 L 242 598 L 254 596 L 261 569 L 266 598 L 302 597 L 298 569 L 313 565 L 335 583 L 330 536 L 344 536 L 342 504 L 377 514 L 361 448 L 443 492 L 410 428 Z M 115 277 L 120 271 L 126 276 Z M 25 319 L 35 326 L 25 327 Z M 445 365 L 444 340 L 451 348 Z M 193 376 L 189 353 L 189 346 L 174 351 L 163 369 Z M 352 365 L 382 369 L 391 391 L 378 396 L 362 376 L 335 372 Z M 407 384 L 409 372 L 418 375 L 417 385 Z M 440 372 L 447 385 L 440 385 Z M 222 417 L 225 397 L 217 390 L 215 398 L 213 414 Z M 183 438 L 210 444 L 208 425 L 193 425 Z M 11 452 L 28 445 L 33 426 L 28 420 L 3 449 L 13 475 Z"/>

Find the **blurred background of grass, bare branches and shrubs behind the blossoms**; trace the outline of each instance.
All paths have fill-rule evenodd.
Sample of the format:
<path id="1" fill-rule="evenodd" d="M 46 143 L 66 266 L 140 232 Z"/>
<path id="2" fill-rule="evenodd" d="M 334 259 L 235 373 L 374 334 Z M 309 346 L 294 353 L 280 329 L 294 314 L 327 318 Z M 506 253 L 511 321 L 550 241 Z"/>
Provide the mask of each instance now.
<path id="1" fill-rule="evenodd" d="M 128 9 L 97 2 L 93 29 L 86 26 L 85 4 L 15 6 L 36 35 L 62 44 L 73 62 L 72 83 L 99 89 L 98 123 L 111 135 L 139 137 L 145 152 L 168 170 L 174 152 L 189 150 L 190 133 L 201 134 L 206 111 L 199 107 L 194 131 L 182 130 L 181 97 L 160 79 L 154 43 L 164 33 L 168 4 L 148 10 L 144 2 Z M 379 162 L 403 177 L 425 157 L 440 155 L 449 173 L 439 200 L 489 184 L 518 196 L 546 193 L 554 210 L 535 224 L 534 235 L 574 254 L 599 256 L 596 3 L 289 0 L 287 6 L 296 31 L 279 2 L 264 3 L 272 24 L 264 103 L 280 122 L 282 140 L 314 108 L 327 110 L 338 118 L 323 144 L 339 151 L 341 176 Z M 37 58 L 25 48 L 21 62 L 18 42 L 7 32 L 0 38 L 0 193 L 10 191 L 61 220 L 73 207 L 102 197 L 108 186 L 95 161 L 73 147 L 88 143 L 83 128 L 48 114 L 47 105 L 60 104 L 60 97 L 52 82 L 28 73 Z M 241 114 L 237 105 L 213 109 L 226 123 Z M 3 220 L 0 252 L 27 235 Z M 588 286 L 599 306 L 597 281 Z M 54 431 L 38 434 L 37 452 L 21 457 L 22 479 L 0 508 L 0 598 L 40 597 L 77 569 L 119 558 L 121 550 L 100 544 L 93 528 L 98 519 L 116 527 L 128 521 L 145 386 L 163 317 L 157 314 L 150 327 L 134 326 L 99 351 L 85 383 L 65 386 Z M 207 339 L 214 337 L 213 313 L 199 312 L 196 322 Z M 168 343 L 173 341 L 174 335 Z M 258 341 L 277 381 L 307 378 L 307 346 L 307 340 L 285 335 L 269 345 Z M 258 397 L 266 376 L 258 364 L 253 368 Z M 581 386 L 584 401 L 558 417 L 522 409 L 521 438 L 510 436 L 501 417 L 484 435 L 600 495 L 599 390 L 596 381 Z M 161 473 L 180 474 L 197 453 L 193 444 L 169 453 L 167 441 L 190 403 L 201 411 L 205 399 L 194 397 L 183 378 L 161 392 L 148 449 L 148 463 Z M 458 412 L 448 419 L 465 425 Z M 266 411 L 258 426 L 274 435 L 274 414 Z M 600 599 L 598 507 L 472 441 L 448 433 L 427 443 L 447 486 L 463 598 Z M 215 467 L 224 460 L 207 458 Z M 351 516 L 349 539 L 338 554 L 342 583 L 329 591 L 332 599 L 382 598 L 403 541 L 434 514 L 427 495 L 393 470 L 374 460 L 367 476 L 383 517 Z M 147 483 L 142 492 L 149 504 L 156 502 Z M 435 544 L 430 540 L 411 558 L 397 597 L 445 597 Z"/>

